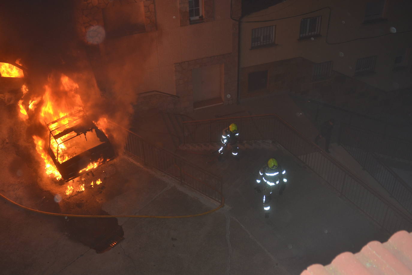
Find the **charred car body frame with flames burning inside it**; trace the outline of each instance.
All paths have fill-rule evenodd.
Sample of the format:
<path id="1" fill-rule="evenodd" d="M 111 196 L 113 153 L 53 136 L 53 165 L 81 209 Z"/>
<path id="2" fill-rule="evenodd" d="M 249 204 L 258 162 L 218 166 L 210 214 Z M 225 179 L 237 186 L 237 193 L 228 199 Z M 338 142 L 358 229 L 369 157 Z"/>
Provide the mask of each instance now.
<path id="1" fill-rule="evenodd" d="M 83 110 L 46 125 L 49 129 L 49 155 L 65 181 L 75 179 L 115 157 L 108 137 Z"/>

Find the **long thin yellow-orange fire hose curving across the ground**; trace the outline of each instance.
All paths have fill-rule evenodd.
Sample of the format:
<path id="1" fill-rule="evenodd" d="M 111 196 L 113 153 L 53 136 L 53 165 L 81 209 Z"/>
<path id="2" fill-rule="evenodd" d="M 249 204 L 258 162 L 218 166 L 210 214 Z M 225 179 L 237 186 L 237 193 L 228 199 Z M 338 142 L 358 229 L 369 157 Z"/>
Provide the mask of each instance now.
<path id="1" fill-rule="evenodd" d="M 222 194 L 220 194 L 222 195 Z M 65 218 L 68 217 L 73 217 L 73 218 L 154 218 L 154 219 L 178 219 L 178 218 L 192 218 L 192 217 L 197 217 L 197 216 L 203 216 L 206 214 L 210 214 L 212 212 L 215 212 L 216 210 L 220 209 L 225 205 L 225 197 L 222 195 L 222 202 L 220 205 L 212 210 L 199 213 L 199 214 L 192 214 L 192 215 L 182 215 L 182 216 L 147 216 L 147 215 L 75 215 L 75 214 L 62 214 L 62 213 L 54 213 L 54 212 L 46 212 L 46 211 L 41 211 L 37 209 L 33 209 L 30 207 L 26 207 L 24 205 L 18 204 L 17 202 L 14 202 L 13 200 L 10 200 L 8 197 L 0 193 L 0 196 L 3 197 L 5 200 L 8 202 L 11 202 L 12 204 L 17 205 L 18 207 L 21 207 L 23 209 L 26 209 L 31 212 L 36 212 L 44 215 L 50 215 L 50 216 L 62 216 Z"/>

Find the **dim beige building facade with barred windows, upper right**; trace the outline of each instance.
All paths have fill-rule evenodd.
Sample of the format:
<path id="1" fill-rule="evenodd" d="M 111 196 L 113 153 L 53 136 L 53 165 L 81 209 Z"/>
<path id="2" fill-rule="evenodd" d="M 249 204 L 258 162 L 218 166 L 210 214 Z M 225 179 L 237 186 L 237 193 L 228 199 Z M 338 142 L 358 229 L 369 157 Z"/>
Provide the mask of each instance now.
<path id="1" fill-rule="evenodd" d="M 347 108 L 384 105 L 412 86 L 411 8 L 396 0 L 296 0 L 244 17 L 240 98 L 287 92 Z"/>

